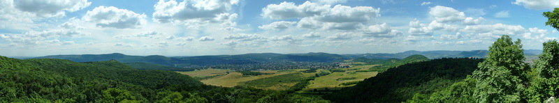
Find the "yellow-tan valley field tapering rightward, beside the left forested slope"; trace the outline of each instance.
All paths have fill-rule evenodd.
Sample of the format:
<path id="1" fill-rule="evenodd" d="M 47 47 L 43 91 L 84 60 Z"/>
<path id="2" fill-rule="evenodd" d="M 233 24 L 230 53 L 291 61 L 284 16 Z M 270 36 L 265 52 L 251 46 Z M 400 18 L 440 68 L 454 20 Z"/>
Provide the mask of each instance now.
<path id="1" fill-rule="evenodd" d="M 224 87 L 233 87 L 237 86 L 241 82 L 251 81 L 255 79 L 261 79 L 266 77 L 275 77 L 282 74 L 289 74 L 295 72 L 277 72 L 275 74 L 262 74 L 258 76 L 243 76 L 239 72 L 230 72 L 224 76 L 215 77 L 212 79 L 204 79 L 202 83 L 212 85 L 212 86 L 224 86 Z"/>

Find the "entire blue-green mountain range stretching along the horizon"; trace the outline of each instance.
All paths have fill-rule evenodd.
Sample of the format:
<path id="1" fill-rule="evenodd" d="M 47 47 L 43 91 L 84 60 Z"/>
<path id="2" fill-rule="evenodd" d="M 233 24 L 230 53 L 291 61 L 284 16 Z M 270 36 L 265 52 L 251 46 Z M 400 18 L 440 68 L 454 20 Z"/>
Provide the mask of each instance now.
<path id="1" fill-rule="evenodd" d="M 542 50 L 527 49 L 525 50 L 527 58 L 535 58 Z M 259 63 L 277 63 L 277 62 L 310 62 L 310 63 L 333 63 L 353 58 L 370 58 L 370 59 L 403 59 L 412 55 L 423 55 L 427 58 L 484 58 L 487 50 L 472 51 L 406 51 L 395 54 L 327 54 L 327 53 L 307 53 L 307 54 L 240 54 L 240 55 L 218 55 L 218 56 L 129 56 L 125 54 L 82 54 L 82 55 L 52 55 L 41 56 L 36 58 L 61 58 L 76 62 L 89 61 L 109 61 L 116 60 L 122 63 L 152 63 L 157 65 L 165 65 L 170 67 L 190 67 L 190 66 L 208 66 L 208 65 L 246 65 Z M 145 65 L 145 64 L 141 64 Z M 155 65 L 154 65 L 155 66 Z"/>

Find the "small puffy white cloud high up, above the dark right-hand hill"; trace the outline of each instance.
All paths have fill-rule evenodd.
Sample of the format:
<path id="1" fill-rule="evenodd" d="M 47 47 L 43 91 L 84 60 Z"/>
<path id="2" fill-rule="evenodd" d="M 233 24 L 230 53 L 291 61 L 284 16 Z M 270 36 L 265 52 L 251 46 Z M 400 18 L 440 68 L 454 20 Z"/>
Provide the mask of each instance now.
<path id="1" fill-rule="evenodd" d="M 463 12 L 445 6 L 435 6 L 430 8 L 429 14 L 435 17 L 438 22 L 459 22 L 465 19 Z"/>

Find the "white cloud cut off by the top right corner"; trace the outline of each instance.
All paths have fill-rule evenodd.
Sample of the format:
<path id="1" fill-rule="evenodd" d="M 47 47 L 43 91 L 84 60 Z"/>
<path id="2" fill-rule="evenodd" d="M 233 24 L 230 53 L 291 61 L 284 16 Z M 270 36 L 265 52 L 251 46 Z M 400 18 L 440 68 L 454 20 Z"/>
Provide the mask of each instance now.
<path id="1" fill-rule="evenodd" d="M 549 9 L 553 10 L 553 8 L 559 7 L 559 1 L 557 0 L 516 0 L 512 2 L 518 6 L 524 6 L 524 8 L 530 9 Z"/>

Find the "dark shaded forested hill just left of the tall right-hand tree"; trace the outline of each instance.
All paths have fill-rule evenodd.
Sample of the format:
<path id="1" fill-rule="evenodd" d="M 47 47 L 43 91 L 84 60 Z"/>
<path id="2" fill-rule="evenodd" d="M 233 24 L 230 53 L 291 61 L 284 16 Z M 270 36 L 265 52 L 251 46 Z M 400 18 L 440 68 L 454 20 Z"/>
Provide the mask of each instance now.
<path id="1" fill-rule="evenodd" d="M 334 102 L 404 102 L 415 93 L 433 93 L 465 79 L 481 61 L 477 58 L 437 58 L 408 63 L 324 97 Z"/>

